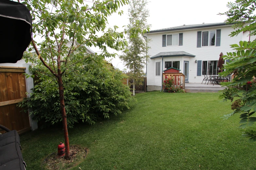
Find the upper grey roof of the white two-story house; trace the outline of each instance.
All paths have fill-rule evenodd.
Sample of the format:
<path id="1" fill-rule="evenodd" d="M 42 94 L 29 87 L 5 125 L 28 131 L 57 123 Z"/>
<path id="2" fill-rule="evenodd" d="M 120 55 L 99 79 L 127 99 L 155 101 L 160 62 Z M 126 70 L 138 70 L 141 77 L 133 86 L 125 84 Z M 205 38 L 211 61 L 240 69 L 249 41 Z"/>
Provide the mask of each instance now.
<path id="1" fill-rule="evenodd" d="M 234 24 L 234 23 L 231 23 L 231 24 Z M 169 28 L 163 28 L 163 29 L 158 29 L 158 30 L 151 30 L 149 32 L 147 31 L 147 33 L 156 33 L 156 32 L 173 31 L 173 30 L 185 30 L 185 29 L 191 29 L 191 28 L 203 28 L 203 27 L 212 27 L 212 26 L 221 26 L 221 25 L 226 25 L 226 22 L 181 25 L 181 26 L 177 26 L 177 27 L 169 27 Z"/>

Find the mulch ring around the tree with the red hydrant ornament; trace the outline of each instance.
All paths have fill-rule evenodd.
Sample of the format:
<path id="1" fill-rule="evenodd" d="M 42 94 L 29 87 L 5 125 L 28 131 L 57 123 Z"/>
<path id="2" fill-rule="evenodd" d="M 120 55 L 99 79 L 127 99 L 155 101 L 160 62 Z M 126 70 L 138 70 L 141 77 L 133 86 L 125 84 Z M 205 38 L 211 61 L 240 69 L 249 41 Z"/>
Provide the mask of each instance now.
<path id="1" fill-rule="evenodd" d="M 88 149 L 81 148 L 78 145 L 71 145 L 69 147 L 70 151 L 70 160 L 65 160 L 64 156 L 58 156 L 58 153 L 53 153 L 49 155 L 43 162 L 45 169 L 69 169 L 73 166 L 76 166 L 78 163 L 81 163 L 84 158 L 86 158 Z"/>

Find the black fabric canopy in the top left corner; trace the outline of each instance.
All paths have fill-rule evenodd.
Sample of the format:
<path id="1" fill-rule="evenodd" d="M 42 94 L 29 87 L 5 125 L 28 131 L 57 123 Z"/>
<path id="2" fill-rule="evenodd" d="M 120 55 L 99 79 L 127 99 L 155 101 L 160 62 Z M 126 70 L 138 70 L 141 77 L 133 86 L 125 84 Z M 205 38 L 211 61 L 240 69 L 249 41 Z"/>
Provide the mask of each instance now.
<path id="1" fill-rule="evenodd" d="M 0 63 L 16 63 L 31 42 L 32 19 L 18 2 L 0 0 Z"/>

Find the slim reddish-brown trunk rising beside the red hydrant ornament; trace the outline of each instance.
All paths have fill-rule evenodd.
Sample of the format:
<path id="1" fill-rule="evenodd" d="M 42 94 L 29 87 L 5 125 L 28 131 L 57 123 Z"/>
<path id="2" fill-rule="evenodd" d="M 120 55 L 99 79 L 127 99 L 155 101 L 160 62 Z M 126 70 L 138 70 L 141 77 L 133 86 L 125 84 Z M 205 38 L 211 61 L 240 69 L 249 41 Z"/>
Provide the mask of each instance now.
<path id="1" fill-rule="evenodd" d="M 65 104 L 64 104 L 64 89 L 63 89 L 62 75 L 59 75 L 58 83 L 59 83 L 59 91 L 60 91 L 59 92 L 60 109 L 62 114 L 62 123 L 63 123 L 63 130 L 64 130 L 64 138 L 65 138 L 65 152 L 66 152 L 65 159 L 70 160 L 67 115 L 66 115 Z"/>

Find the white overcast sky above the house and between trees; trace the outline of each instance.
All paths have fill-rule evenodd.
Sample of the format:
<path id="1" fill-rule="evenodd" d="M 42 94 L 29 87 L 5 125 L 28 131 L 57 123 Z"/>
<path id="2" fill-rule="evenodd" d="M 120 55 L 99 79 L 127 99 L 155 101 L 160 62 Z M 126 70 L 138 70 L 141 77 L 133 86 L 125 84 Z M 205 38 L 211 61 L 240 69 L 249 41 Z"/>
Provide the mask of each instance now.
<path id="1" fill-rule="evenodd" d="M 230 2 L 230 0 L 151 0 L 147 7 L 150 13 L 148 23 L 152 25 L 150 30 L 180 26 L 183 24 L 224 22 L 227 17 L 217 14 L 219 12 L 224 13 L 228 11 L 226 7 L 228 2 Z M 109 26 L 119 26 L 120 29 L 118 31 L 123 30 L 122 26 L 128 25 L 128 5 L 121 7 L 120 10 L 124 11 L 124 15 L 113 14 L 108 18 Z M 91 49 L 93 51 L 99 51 L 94 47 Z M 114 51 L 112 49 L 109 49 L 109 51 L 121 54 L 121 51 Z M 119 62 L 121 62 L 121 60 L 118 57 L 111 59 L 111 63 L 114 67 L 123 70 L 125 67 L 123 63 Z"/>

